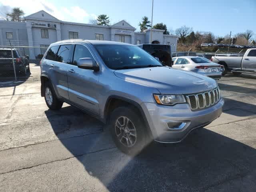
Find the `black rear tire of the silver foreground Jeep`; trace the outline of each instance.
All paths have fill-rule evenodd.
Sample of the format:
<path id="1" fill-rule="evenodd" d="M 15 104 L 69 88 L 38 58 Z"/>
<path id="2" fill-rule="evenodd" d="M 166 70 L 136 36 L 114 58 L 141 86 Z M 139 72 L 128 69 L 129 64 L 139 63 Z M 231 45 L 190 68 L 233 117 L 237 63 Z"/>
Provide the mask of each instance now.
<path id="1" fill-rule="evenodd" d="M 52 102 L 48 100 L 48 96 L 50 97 L 48 93 L 49 90 L 52 96 Z M 49 82 L 46 82 L 44 85 L 44 100 L 49 109 L 59 110 L 60 108 L 62 108 L 63 102 L 57 98 L 54 89 L 52 88 L 52 85 Z"/>

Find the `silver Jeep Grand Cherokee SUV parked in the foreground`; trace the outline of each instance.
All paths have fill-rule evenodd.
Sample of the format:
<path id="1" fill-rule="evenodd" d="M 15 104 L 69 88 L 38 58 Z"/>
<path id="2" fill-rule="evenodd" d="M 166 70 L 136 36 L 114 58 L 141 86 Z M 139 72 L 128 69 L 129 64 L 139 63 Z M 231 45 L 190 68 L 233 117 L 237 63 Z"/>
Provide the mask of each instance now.
<path id="1" fill-rule="evenodd" d="M 63 102 L 109 125 L 116 146 L 137 154 L 152 140 L 174 143 L 222 113 L 215 80 L 164 66 L 119 42 L 65 40 L 40 63 L 41 93 L 52 110 Z"/>

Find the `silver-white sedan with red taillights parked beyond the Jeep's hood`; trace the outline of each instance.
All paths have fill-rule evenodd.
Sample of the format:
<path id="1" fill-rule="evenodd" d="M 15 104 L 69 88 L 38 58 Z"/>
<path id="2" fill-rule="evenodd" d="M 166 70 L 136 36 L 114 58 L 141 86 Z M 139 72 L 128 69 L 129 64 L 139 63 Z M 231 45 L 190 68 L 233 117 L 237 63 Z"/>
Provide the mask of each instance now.
<path id="1" fill-rule="evenodd" d="M 198 57 L 198 56 L 183 56 L 183 57 L 174 57 L 173 68 L 192 71 L 198 74 L 211 77 L 215 80 L 221 78 L 222 70 L 220 64 L 211 62 L 210 60 Z"/>

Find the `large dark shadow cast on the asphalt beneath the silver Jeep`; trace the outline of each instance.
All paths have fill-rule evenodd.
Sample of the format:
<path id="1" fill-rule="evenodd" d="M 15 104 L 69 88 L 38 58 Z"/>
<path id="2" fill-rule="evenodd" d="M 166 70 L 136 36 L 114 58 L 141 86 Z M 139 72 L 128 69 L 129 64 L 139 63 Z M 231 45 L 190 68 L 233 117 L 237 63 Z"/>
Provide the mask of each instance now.
<path id="1" fill-rule="evenodd" d="M 243 140 L 200 128 L 181 143 L 152 142 L 130 157 L 115 148 L 107 126 L 92 116 L 71 106 L 45 114 L 62 144 L 84 166 L 84 177 L 98 179 L 111 192 L 218 191 L 221 185 L 226 191 L 256 190 L 256 150 Z M 99 126 L 101 130 L 94 131 Z M 92 132 L 71 136 L 67 127 L 70 132 L 79 128 Z M 251 140 L 255 144 L 255 138 Z M 97 190 L 99 186 L 93 185 Z"/>

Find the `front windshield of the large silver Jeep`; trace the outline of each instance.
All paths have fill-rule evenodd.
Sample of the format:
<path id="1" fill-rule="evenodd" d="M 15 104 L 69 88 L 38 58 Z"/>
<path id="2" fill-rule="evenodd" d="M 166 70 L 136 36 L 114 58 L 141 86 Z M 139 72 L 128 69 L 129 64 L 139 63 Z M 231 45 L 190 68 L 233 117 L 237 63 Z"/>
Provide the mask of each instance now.
<path id="1" fill-rule="evenodd" d="M 163 66 L 156 58 L 137 46 L 95 45 L 95 48 L 110 69 Z"/>

